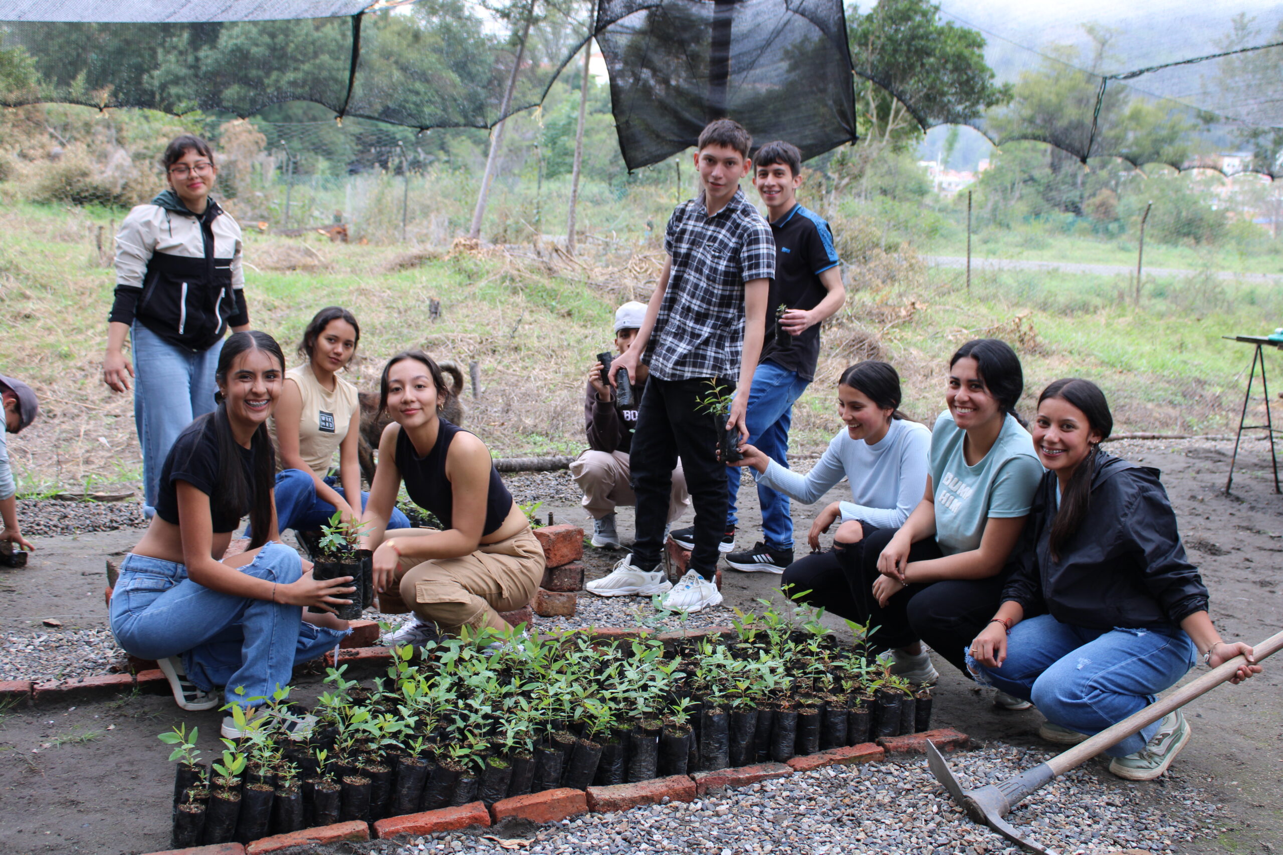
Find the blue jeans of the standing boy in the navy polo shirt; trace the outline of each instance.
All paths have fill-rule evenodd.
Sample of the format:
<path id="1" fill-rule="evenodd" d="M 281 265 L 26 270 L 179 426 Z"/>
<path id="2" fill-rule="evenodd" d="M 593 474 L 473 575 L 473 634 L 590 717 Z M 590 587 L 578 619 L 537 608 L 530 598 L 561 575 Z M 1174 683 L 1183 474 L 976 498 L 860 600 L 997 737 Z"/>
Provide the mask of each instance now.
<path id="1" fill-rule="evenodd" d="M 762 454 L 789 465 L 789 426 L 793 424 L 793 403 L 810 385 L 797 372 L 780 368 L 775 363 L 762 363 L 753 372 L 753 387 L 748 392 L 748 442 Z M 726 468 L 726 528 L 739 522 L 735 515 L 735 496 L 743 467 Z M 757 500 L 762 504 L 762 540 L 771 549 L 793 549 L 793 517 L 789 497 L 783 492 L 758 485 Z"/>

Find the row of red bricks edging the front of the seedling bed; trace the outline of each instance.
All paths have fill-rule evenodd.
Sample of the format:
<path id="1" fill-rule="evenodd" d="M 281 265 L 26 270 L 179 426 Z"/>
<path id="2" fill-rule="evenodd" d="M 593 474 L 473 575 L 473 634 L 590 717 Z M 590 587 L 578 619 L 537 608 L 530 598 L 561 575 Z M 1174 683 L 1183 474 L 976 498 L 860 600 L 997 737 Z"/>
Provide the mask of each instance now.
<path id="1" fill-rule="evenodd" d="M 616 636 L 618 637 L 618 636 Z M 373 649 L 382 650 L 382 649 Z M 343 656 L 340 655 L 340 659 Z M 901 742 L 897 742 L 901 740 Z M 905 742 L 907 740 L 907 742 Z M 822 769 L 831 765 L 857 765 L 885 760 L 889 754 L 925 751 L 930 741 L 947 751 L 955 751 L 970 745 L 970 737 L 952 728 L 939 728 L 912 733 L 905 737 L 884 737 L 880 745 L 863 742 L 840 749 L 828 749 L 803 758 L 793 758 L 788 763 L 757 763 L 733 769 L 715 772 L 695 772 L 667 778 L 652 778 L 640 783 L 622 783 L 611 787 L 589 787 L 572 790 L 561 787 L 545 790 L 526 796 L 513 796 L 490 805 L 480 801 L 462 808 L 441 808 L 402 817 L 387 817 L 367 826 L 362 822 L 346 822 L 321 828 L 305 828 L 289 834 L 275 834 L 251 842 L 246 847 L 240 843 L 219 843 L 217 846 L 198 846 L 151 852 L 150 855 L 255 855 L 305 843 L 327 843 L 337 841 L 390 840 L 431 834 L 438 831 L 463 831 L 467 828 L 489 828 L 503 820 L 523 819 L 532 823 L 554 823 L 571 817 L 594 811 L 615 813 L 629 810 L 638 805 L 662 804 L 665 801 L 694 801 L 699 796 L 717 795 L 726 790 L 748 787 L 761 781 L 789 778 L 794 774 Z M 885 746 L 885 747 L 884 747 Z"/>

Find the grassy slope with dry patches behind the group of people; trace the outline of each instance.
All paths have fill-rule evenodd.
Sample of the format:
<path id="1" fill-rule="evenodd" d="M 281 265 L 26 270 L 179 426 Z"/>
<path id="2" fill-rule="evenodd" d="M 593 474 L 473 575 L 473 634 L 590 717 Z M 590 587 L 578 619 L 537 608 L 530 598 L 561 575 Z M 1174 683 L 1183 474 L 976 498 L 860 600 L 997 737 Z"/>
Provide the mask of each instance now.
<path id="1" fill-rule="evenodd" d="M 96 259 L 94 233 L 119 215 L 0 205 L 0 370 L 30 379 L 42 399 L 42 418 L 10 442 L 28 492 L 139 477 L 131 401 L 98 379 L 113 273 Z M 280 269 L 291 258 L 310 269 Z M 346 305 L 364 333 L 358 386 L 373 388 L 382 360 L 403 347 L 454 359 L 464 373 L 477 360 L 484 394 L 477 401 L 464 395 L 464 422 L 497 454 L 582 447 L 582 378 L 608 346 L 618 288 L 576 268 L 499 253 L 408 259 L 399 249 L 319 236 L 250 233 L 246 259 L 258 268 L 248 270 L 254 323 L 287 351 L 313 311 Z M 1079 374 L 1110 394 L 1119 431 L 1227 429 L 1251 354 L 1220 336 L 1277 326 L 1278 288 L 1160 281 L 1137 310 L 1123 299 L 1125 286 L 1110 277 L 1002 273 L 978 277 L 967 297 L 952 272 L 935 270 L 856 292 L 825 332 L 817 382 L 794 418 L 794 449 L 817 451 L 835 431 L 833 382 L 854 354 L 867 353 L 854 345 L 869 336 L 905 377 L 905 409 L 928 422 L 943 406 L 948 354 L 993 335 L 1021 353 L 1026 411 L 1046 382 Z M 441 301 L 438 322 L 429 319 L 430 299 Z"/>

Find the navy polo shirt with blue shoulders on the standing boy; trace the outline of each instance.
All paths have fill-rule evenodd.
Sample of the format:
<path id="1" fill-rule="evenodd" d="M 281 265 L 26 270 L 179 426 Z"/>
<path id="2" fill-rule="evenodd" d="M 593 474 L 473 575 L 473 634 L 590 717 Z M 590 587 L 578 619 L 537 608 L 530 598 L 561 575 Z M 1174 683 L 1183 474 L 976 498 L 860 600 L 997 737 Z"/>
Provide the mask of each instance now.
<path id="1" fill-rule="evenodd" d="M 815 365 L 820 360 L 820 324 L 801 336 L 790 336 L 789 346 L 780 347 L 775 344 L 779 323 L 775 311 L 781 303 L 789 309 L 820 305 L 828 294 L 820 274 L 838 265 L 838 251 L 833 247 L 829 223 L 802 205 L 794 205 L 771 223 L 771 233 L 775 236 L 775 278 L 766 304 L 766 341 L 760 361 L 770 360 L 810 382 L 815 379 Z"/>

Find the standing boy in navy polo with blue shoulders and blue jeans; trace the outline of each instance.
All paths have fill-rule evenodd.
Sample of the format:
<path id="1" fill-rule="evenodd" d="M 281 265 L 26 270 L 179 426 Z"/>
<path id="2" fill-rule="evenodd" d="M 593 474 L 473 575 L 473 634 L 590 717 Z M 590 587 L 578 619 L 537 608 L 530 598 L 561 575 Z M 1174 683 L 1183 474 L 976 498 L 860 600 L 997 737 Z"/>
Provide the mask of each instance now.
<path id="1" fill-rule="evenodd" d="M 815 379 L 820 359 L 820 322 L 847 299 L 829 224 L 797 203 L 802 185 L 802 153 L 788 142 L 767 142 L 757 151 L 753 186 L 766 203 L 775 236 L 775 279 L 766 310 L 766 344 L 753 374 L 748 399 L 749 444 L 772 460 L 788 465 L 793 403 Z M 777 315 L 780 306 L 786 308 Z M 776 337 L 776 327 L 784 336 Z M 735 547 L 735 495 L 743 469 L 733 467 L 726 478 L 726 532 L 718 549 L 730 552 L 726 563 L 749 573 L 783 573 L 793 563 L 793 517 L 789 497 L 758 486 L 762 505 L 762 540 L 742 552 Z M 672 540 L 690 549 L 692 529 L 672 532 Z"/>

